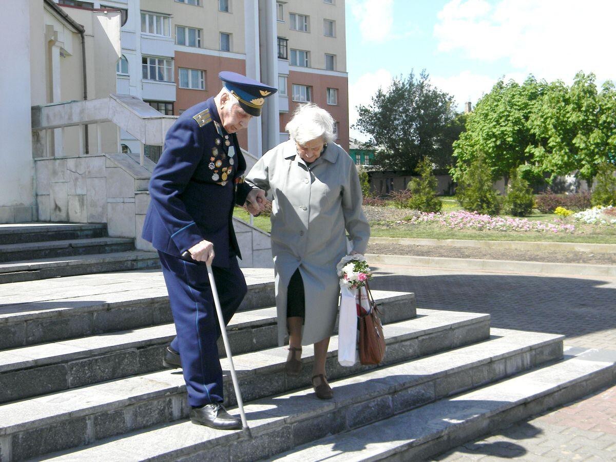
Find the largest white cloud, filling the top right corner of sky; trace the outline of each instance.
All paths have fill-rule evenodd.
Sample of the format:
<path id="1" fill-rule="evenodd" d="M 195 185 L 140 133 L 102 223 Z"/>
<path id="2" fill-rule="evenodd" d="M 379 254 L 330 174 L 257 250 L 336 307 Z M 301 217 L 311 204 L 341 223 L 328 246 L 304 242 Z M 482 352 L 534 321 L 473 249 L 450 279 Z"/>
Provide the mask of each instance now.
<path id="1" fill-rule="evenodd" d="M 537 78 L 571 81 L 582 70 L 601 82 L 616 79 L 614 17 L 614 0 L 452 0 L 434 36 L 439 51 L 506 59 Z"/>

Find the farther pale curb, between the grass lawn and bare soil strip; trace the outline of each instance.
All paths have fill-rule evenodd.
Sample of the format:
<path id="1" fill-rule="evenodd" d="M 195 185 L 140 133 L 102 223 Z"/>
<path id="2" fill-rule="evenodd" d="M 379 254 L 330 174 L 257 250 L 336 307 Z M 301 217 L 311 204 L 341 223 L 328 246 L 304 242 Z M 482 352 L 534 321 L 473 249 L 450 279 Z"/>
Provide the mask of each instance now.
<path id="1" fill-rule="evenodd" d="M 369 244 L 439 245 L 450 247 L 477 247 L 482 249 L 560 250 L 594 253 L 616 253 L 616 244 L 586 244 L 575 242 L 535 241 L 476 241 L 464 239 L 411 239 L 371 237 Z"/>

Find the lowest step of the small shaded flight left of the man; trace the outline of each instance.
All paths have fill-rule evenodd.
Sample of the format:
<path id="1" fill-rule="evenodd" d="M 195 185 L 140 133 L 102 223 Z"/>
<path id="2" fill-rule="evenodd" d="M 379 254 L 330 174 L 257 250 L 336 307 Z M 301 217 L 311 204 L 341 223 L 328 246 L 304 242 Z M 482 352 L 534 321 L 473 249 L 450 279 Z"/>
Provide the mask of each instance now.
<path id="1" fill-rule="evenodd" d="M 0 284 L 158 267 L 158 253 L 140 250 L 4 262 L 0 263 Z"/>

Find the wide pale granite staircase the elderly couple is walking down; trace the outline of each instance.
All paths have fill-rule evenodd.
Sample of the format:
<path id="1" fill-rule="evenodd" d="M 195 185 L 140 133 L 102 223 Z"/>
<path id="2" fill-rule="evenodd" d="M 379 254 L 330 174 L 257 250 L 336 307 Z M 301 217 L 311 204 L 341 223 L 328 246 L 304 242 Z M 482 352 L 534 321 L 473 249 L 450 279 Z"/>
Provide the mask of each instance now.
<path id="1" fill-rule="evenodd" d="M 607 352 L 375 291 L 383 364 L 341 367 L 334 336 L 334 399 L 318 400 L 311 347 L 299 377 L 284 373 L 273 270 L 243 272 L 248 294 L 228 331 L 250 432 L 187 420 L 182 374 L 162 366 L 175 332 L 160 271 L 1 284 L 0 461 L 422 460 L 615 379 Z M 226 374 L 224 386 L 237 414 Z"/>

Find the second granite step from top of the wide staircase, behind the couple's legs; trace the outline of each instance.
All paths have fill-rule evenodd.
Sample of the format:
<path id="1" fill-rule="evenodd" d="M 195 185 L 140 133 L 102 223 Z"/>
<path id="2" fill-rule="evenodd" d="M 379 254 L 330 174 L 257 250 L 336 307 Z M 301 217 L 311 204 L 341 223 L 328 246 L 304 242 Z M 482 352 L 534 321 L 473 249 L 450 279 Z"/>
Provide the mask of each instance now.
<path id="1" fill-rule="evenodd" d="M 413 294 L 374 296 L 386 323 L 415 316 Z M 276 320 L 275 307 L 235 314 L 227 326 L 233 354 L 277 346 Z M 164 369 L 163 351 L 175 335 L 169 323 L 0 351 L 0 403 Z M 225 355 L 222 340 L 219 352 Z"/>

